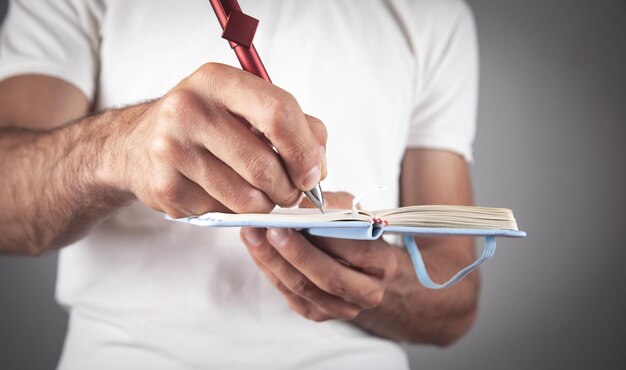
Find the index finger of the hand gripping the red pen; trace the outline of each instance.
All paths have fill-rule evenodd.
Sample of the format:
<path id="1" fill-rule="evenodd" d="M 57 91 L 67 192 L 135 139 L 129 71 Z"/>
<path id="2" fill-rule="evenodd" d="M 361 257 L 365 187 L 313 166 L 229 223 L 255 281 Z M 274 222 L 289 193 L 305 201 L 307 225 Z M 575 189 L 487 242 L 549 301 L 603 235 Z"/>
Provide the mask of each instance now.
<path id="1" fill-rule="evenodd" d="M 291 94 L 250 73 L 214 63 L 201 67 L 187 83 L 269 139 L 298 189 L 310 190 L 319 182 L 325 140 L 318 141 L 313 130 L 319 135 L 319 127 L 311 128 Z"/>

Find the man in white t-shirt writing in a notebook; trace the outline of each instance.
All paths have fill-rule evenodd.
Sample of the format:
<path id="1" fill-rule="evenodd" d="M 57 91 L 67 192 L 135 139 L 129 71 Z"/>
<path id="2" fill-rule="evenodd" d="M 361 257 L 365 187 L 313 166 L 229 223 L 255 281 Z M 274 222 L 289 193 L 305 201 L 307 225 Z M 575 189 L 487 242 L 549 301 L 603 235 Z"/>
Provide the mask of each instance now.
<path id="1" fill-rule="evenodd" d="M 10 3 L 0 249 L 67 246 L 61 369 L 406 368 L 397 341 L 445 345 L 473 322 L 477 276 L 425 290 L 392 240 L 164 220 L 291 206 L 320 179 L 327 207 L 379 184 L 366 208 L 472 203 L 464 3 L 241 6 L 276 86 L 225 65 L 204 0 Z M 418 244 L 439 280 L 473 258 L 464 238 Z"/>

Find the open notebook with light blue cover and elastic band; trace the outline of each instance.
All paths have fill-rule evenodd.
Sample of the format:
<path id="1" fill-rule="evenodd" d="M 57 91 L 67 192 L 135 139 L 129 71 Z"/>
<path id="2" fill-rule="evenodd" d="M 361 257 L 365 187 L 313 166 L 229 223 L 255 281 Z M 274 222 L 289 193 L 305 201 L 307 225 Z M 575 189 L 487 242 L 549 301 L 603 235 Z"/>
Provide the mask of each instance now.
<path id="1" fill-rule="evenodd" d="M 473 206 L 424 205 L 365 211 L 329 209 L 276 208 L 269 214 L 206 213 L 175 219 L 209 227 L 285 227 L 304 230 L 315 236 L 373 240 L 383 233 L 401 234 L 419 281 L 431 289 L 450 286 L 480 266 L 495 252 L 496 236 L 523 238 L 510 209 Z M 478 260 L 459 271 L 443 284 L 434 283 L 415 243 L 414 235 L 467 235 L 485 237 L 485 247 Z"/>

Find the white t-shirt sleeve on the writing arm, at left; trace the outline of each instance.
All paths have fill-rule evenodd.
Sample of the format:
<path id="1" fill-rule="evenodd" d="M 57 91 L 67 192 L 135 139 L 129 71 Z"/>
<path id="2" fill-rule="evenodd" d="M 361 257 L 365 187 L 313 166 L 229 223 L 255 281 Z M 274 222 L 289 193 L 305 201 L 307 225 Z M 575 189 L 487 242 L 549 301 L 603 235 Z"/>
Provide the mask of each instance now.
<path id="1" fill-rule="evenodd" d="M 22 74 L 57 77 L 93 101 L 98 9 L 98 1 L 10 1 L 0 30 L 0 80 Z"/>

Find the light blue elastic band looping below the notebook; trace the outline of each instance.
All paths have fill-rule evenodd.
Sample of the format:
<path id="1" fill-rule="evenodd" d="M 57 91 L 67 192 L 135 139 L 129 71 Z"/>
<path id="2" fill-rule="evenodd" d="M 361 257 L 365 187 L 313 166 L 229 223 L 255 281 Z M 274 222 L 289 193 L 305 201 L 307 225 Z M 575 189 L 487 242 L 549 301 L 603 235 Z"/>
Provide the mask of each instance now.
<path id="1" fill-rule="evenodd" d="M 474 271 L 478 268 L 478 266 L 482 265 L 483 262 L 491 258 L 496 252 L 496 237 L 494 235 L 485 236 L 485 247 L 483 248 L 482 256 L 480 256 L 480 258 L 474 261 L 471 265 L 457 272 L 452 278 L 450 278 L 450 280 L 443 284 L 433 282 L 430 279 L 430 276 L 428 276 L 428 272 L 426 272 L 426 265 L 424 265 L 424 260 L 422 259 L 419 249 L 417 248 L 417 244 L 415 244 L 415 238 L 412 235 L 404 235 L 404 245 L 411 256 L 411 262 L 413 262 L 415 274 L 417 275 L 417 279 L 420 283 L 426 288 L 441 289 L 456 284 L 459 280 L 463 279 L 465 275 Z"/>

